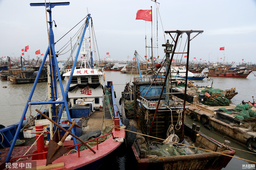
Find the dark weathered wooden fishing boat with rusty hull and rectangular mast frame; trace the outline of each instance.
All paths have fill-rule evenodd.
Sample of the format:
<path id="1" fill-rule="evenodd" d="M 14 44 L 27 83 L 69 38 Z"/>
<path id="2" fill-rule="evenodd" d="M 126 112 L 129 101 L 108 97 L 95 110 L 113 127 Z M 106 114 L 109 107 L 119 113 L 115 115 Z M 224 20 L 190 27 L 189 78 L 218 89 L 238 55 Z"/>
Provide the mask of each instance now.
<path id="1" fill-rule="evenodd" d="M 203 31 L 165 31 L 175 33 L 174 42 L 181 34 L 202 33 Z M 197 34 L 197 35 L 198 35 Z M 136 127 L 136 140 L 132 146 L 139 170 L 220 170 L 231 160 L 235 151 L 202 134 L 200 127 L 189 126 L 184 121 L 187 108 L 184 100 L 174 96 L 172 88 L 177 85 L 171 77 L 171 63 L 177 43 L 165 46 L 165 77 L 135 77 L 133 85 L 127 85 L 122 93 L 122 112 L 127 115 L 130 125 Z M 188 43 L 189 51 L 189 43 Z M 173 49 L 174 48 L 174 49 Z M 170 57 L 170 53 L 172 54 Z M 189 52 L 187 52 L 189 59 Z M 188 60 L 187 60 L 188 61 Z M 186 77 L 188 70 L 186 70 Z M 187 78 L 185 79 L 186 96 Z M 128 105 L 126 104 L 129 104 Z M 133 116 L 132 116 L 133 113 Z M 227 145 L 226 145 L 227 146 Z M 200 148 L 204 148 L 201 150 Z M 206 151 L 207 150 L 207 151 Z M 199 151 L 199 152 L 198 152 Z M 206 152 L 205 152 L 206 151 Z"/>

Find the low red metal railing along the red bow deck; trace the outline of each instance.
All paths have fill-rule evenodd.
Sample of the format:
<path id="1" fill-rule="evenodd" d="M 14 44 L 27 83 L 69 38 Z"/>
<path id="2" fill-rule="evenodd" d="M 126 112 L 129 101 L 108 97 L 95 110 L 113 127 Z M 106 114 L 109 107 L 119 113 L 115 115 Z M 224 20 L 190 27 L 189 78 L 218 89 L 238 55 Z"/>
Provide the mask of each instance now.
<path id="1" fill-rule="evenodd" d="M 99 139 L 102 138 L 102 137 L 108 136 L 108 135 L 112 135 L 113 138 L 114 138 L 113 132 L 110 132 L 110 133 L 108 133 L 108 134 L 105 134 L 105 135 L 96 137 L 96 138 L 91 139 L 91 140 L 89 140 L 89 141 L 86 141 L 86 142 L 84 142 L 84 143 L 89 143 L 89 142 L 92 142 L 92 141 L 96 140 L 96 148 L 97 148 L 96 150 L 99 150 Z M 67 146 L 67 147 L 65 147 L 65 148 L 66 148 L 66 149 L 68 149 L 68 148 L 73 148 L 73 147 L 78 146 L 78 145 L 82 145 L 82 143 L 80 143 L 80 144 L 74 144 L 74 145 L 71 145 L 71 146 Z M 78 149 L 77 152 L 78 152 L 78 158 L 80 158 L 80 150 Z M 33 154 L 27 154 L 27 155 L 12 157 L 12 158 L 10 159 L 10 162 L 13 162 L 13 161 L 15 161 L 16 159 L 19 159 L 19 158 L 30 157 L 30 156 L 35 156 L 35 155 L 41 155 L 41 154 L 46 154 L 46 153 L 48 153 L 48 151 L 42 152 L 42 153 L 33 153 Z"/>

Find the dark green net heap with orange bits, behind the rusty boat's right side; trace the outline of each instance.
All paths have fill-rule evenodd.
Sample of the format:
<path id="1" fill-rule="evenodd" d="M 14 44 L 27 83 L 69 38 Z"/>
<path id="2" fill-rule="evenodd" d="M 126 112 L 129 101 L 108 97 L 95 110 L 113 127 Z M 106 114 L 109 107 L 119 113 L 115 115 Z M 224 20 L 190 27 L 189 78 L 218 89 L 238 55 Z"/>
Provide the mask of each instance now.
<path id="1" fill-rule="evenodd" d="M 209 93 L 210 97 L 205 97 L 204 104 L 207 106 L 229 106 L 229 99 L 225 97 L 221 89 L 204 89 L 199 94 Z"/>

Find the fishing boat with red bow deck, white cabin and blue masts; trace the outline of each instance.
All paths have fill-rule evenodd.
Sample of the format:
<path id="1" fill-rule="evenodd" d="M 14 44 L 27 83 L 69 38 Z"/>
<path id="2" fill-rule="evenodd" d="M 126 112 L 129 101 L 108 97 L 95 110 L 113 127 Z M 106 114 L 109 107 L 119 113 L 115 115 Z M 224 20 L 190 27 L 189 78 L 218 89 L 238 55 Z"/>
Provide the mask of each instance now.
<path id="1" fill-rule="evenodd" d="M 49 46 L 20 122 L 0 129 L 1 170 L 94 170 L 124 141 L 126 133 L 119 128 L 123 124 L 115 104 L 112 82 L 108 81 L 105 85 L 102 70 L 92 67 L 92 56 L 89 68 L 86 65 L 84 68 L 75 68 L 80 52 L 85 58 L 84 51 L 80 50 L 90 25 L 90 14 L 84 18 L 83 29 L 80 30 L 72 70 L 65 75 L 68 77 L 66 88 L 59 80 L 61 94 L 57 93 L 56 74 L 60 77 L 60 71 L 56 67 L 52 8 L 61 5 L 69 5 L 69 2 L 30 4 L 45 7 L 49 14 Z M 33 102 L 31 99 L 47 56 L 50 58 L 48 101 Z M 36 115 L 30 112 L 31 115 L 25 118 L 28 107 L 42 104 L 49 105 L 49 108 L 42 111 L 36 109 Z"/>

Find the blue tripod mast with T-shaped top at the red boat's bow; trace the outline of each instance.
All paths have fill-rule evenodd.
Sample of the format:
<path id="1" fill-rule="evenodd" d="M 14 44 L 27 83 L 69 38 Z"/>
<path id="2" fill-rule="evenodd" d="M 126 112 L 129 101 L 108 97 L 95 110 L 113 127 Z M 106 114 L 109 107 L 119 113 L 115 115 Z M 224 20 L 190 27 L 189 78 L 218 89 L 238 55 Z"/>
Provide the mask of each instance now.
<path id="1" fill-rule="evenodd" d="M 61 6 L 61 5 L 69 5 L 69 2 L 56 2 L 56 3 L 31 3 L 30 6 L 46 6 L 47 8 L 47 12 L 49 13 L 49 46 L 46 50 L 46 53 L 45 53 L 45 56 L 44 56 L 44 59 L 42 61 L 42 64 L 38 70 L 38 74 L 37 74 L 37 77 L 36 77 L 36 80 L 35 80 L 35 83 L 32 87 L 32 90 L 29 94 L 29 97 L 28 97 L 28 100 L 27 100 L 27 103 L 26 103 L 26 106 L 25 106 L 25 109 L 23 111 L 23 114 L 21 116 L 21 119 L 20 119 L 20 122 L 18 124 L 18 127 L 17 127 L 17 131 L 16 131 L 16 134 L 13 138 L 13 142 L 11 144 L 11 147 L 9 149 L 9 153 L 7 155 L 7 158 L 6 158 L 6 162 L 9 162 L 10 161 L 10 157 L 11 157 L 11 153 L 13 151 L 13 148 L 14 148 L 14 145 L 16 143 L 16 140 L 18 138 L 18 134 L 19 134 L 19 131 L 21 129 L 21 126 L 22 126 L 22 122 L 23 122 L 23 119 L 25 118 L 25 115 L 27 113 L 27 108 L 28 108 L 28 105 L 31 104 L 31 105 L 35 105 L 35 104 L 52 104 L 52 110 L 53 110 L 53 116 L 55 117 L 55 121 L 56 121 L 56 116 L 57 116 L 57 108 L 56 108 L 56 105 L 57 103 L 62 103 L 65 105 L 66 108 L 68 108 L 68 105 L 67 105 L 67 101 L 66 101 L 66 95 L 64 93 L 64 88 L 63 88 L 63 84 L 62 84 L 62 80 L 59 79 L 59 83 L 60 83 L 60 86 L 61 86 L 61 91 L 62 91 L 62 96 L 63 96 L 63 101 L 56 101 L 56 99 L 58 98 L 57 96 L 57 87 L 56 87 L 56 71 L 57 71 L 57 75 L 59 77 L 60 76 L 60 71 L 58 69 L 58 63 L 57 63 L 57 59 L 56 59 L 56 54 L 55 54 L 55 47 L 54 47 L 54 33 L 53 33 L 53 29 L 52 29 L 52 11 L 51 11 L 51 8 L 54 8 L 55 6 Z M 86 27 L 85 27 L 86 29 Z M 85 32 L 85 31 L 84 31 Z M 84 35 L 84 34 L 83 34 Z M 44 67 L 44 64 L 45 64 L 45 61 L 46 61 L 46 58 L 47 56 L 49 55 L 50 57 L 50 62 L 49 62 L 49 65 L 51 67 L 50 69 L 50 77 L 51 77 L 51 99 L 47 102 L 31 102 L 31 99 L 32 99 L 32 96 L 33 96 L 33 93 L 35 91 L 35 88 L 36 88 L 36 85 L 37 85 L 37 82 L 38 82 L 38 79 L 39 79 L 39 76 L 42 72 L 42 69 Z M 56 69 L 57 68 L 57 69 Z M 68 119 L 71 120 L 70 118 L 70 114 L 69 114 L 69 110 L 66 109 L 67 111 L 67 115 L 68 115 Z M 72 129 L 71 131 L 73 134 L 74 134 L 74 131 Z M 77 144 L 76 140 L 74 139 L 74 144 Z"/>

